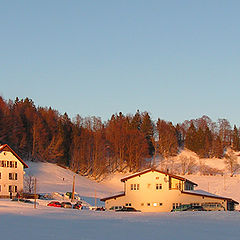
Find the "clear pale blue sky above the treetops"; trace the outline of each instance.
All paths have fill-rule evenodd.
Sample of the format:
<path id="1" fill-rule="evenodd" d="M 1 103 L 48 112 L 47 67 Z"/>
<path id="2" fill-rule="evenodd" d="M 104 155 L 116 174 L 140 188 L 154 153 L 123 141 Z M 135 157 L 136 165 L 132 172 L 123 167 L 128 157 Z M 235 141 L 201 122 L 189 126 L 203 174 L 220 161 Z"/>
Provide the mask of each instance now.
<path id="1" fill-rule="evenodd" d="M 70 117 L 240 125 L 240 1 L 0 0 L 0 94 Z"/>

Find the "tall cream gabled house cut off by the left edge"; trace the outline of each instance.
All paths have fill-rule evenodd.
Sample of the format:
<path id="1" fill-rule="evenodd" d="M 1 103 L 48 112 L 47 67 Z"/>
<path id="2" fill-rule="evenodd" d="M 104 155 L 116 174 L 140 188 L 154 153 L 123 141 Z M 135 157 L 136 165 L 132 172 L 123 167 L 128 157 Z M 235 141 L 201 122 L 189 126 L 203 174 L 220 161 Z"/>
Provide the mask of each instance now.
<path id="1" fill-rule="evenodd" d="M 24 168 L 28 165 L 7 145 L 0 146 L 0 197 L 14 197 L 23 190 Z"/>

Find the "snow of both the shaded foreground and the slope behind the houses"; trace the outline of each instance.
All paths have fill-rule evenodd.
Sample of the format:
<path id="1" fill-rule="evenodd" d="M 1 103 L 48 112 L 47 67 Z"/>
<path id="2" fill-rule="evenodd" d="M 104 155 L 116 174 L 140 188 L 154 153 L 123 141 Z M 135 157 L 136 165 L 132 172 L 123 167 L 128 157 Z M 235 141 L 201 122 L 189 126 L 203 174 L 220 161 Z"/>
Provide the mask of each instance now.
<path id="1" fill-rule="evenodd" d="M 72 190 L 71 171 L 50 163 L 29 162 L 27 174 L 37 177 L 42 193 Z M 123 190 L 115 174 L 101 183 L 76 176 L 76 192 L 94 203 L 94 196 L 105 197 Z M 197 189 L 231 197 L 240 202 L 240 177 L 189 175 Z M 96 212 L 47 207 L 48 201 L 32 204 L 0 200 L 0 239 L 240 239 L 240 212 L 124 213 Z"/>

